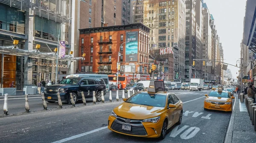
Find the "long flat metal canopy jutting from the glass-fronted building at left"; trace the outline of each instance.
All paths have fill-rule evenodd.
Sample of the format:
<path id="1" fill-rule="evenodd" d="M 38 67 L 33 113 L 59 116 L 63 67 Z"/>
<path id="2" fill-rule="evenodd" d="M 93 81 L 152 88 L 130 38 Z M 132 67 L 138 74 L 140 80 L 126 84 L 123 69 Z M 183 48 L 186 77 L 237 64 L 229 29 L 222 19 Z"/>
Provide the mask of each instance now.
<path id="1" fill-rule="evenodd" d="M 35 59 L 48 59 L 48 60 L 56 60 L 57 57 L 55 53 L 43 53 L 38 52 L 37 50 L 23 50 L 23 49 L 16 49 L 14 46 L 4 47 L 0 46 L 0 53 L 6 55 L 14 55 L 14 56 L 25 56 Z M 82 59 L 82 57 L 73 58 L 70 55 L 66 55 L 64 58 L 60 58 L 59 61 L 78 61 Z"/>

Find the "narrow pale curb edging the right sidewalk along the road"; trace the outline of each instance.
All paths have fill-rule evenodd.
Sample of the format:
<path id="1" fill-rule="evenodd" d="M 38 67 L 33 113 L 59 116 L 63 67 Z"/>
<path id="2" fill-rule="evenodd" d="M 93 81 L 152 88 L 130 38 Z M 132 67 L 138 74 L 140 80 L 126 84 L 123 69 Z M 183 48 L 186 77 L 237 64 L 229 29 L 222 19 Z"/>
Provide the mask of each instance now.
<path id="1" fill-rule="evenodd" d="M 233 111 L 230 117 L 230 122 L 228 124 L 227 133 L 225 135 L 224 143 L 232 143 L 235 114 L 236 114 L 236 98 L 233 106 Z"/>

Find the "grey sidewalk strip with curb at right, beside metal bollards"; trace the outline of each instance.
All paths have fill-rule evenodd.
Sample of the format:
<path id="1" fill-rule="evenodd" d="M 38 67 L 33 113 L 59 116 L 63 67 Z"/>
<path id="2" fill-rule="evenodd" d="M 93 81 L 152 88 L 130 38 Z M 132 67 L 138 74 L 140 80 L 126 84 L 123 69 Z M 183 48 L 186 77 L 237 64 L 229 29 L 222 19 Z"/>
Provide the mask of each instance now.
<path id="1" fill-rule="evenodd" d="M 247 108 L 244 102 L 240 102 L 237 94 L 234 97 L 236 101 L 224 143 L 256 143 L 256 132 Z"/>

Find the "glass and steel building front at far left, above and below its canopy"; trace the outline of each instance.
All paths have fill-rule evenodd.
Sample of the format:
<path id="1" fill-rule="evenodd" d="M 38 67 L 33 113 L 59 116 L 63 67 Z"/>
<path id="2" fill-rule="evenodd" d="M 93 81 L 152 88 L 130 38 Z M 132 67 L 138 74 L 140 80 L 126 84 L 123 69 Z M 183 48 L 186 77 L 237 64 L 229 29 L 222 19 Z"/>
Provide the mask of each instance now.
<path id="1" fill-rule="evenodd" d="M 76 33 L 77 18 L 68 19 L 75 16 L 77 5 L 78 2 L 75 0 L 35 0 L 33 3 L 0 1 L 0 46 L 12 46 L 13 40 L 16 39 L 19 40 L 18 48 L 20 49 L 35 50 L 38 44 L 41 45 L 41 52 L 53 52 L 58 46 L 59 35 L 59 41 L 65 43 L 66 54 L 74 51 L 72 56 L 76 56 L 74 36 L 72 34 L 67 36 L 67 34 Z M 12 74 L 1 77 L 3 81 L 1 87 L 9 87 L 10 82 L 15 81 L 17 90 L 23 90 L 24 85 L 37 85 L 42 79 L 55 81 L 55 67 L 47 66 L 56 63 L 54 60 L 29 56 L 2 56 L 5 66 L 1 72 L 3 75 L 9 75 L 9 71 Z M 75 62 L 59 62 L 59 64 L 67 65 L 59 68 L 57 73 L 59 79 L 76 72 Z M 6 67 L 6 65 L 12 66 Z"/>

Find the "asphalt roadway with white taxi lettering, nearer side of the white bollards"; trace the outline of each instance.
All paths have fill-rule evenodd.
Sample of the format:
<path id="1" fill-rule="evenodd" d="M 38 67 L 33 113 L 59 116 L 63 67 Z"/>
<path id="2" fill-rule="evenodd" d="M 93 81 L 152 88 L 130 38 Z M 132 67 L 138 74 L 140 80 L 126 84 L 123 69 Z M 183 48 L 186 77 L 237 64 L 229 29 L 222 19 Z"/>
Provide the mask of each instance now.
<path id="1" fill-rule="evenodd" d="M 107 129 L 108 116 L 122 101 L 0 117 L 3 143 L 223 143 L 231 113 L 205 111 L 209 91 L 173 91 L 183 101 L 181 125 L 164 140 L 119 135 Z M 106 96 L 107 97 L 107 96 Z M 122 96 L 119 96 L 121 98 Z M 114 97 L 113 97 L 114 99 Z M 32 101 L 31 101 L 32 102 Z M 55 106 L 58 106 L 55 105 Z M 70 106 L 70 105 L 67 105 Z"/>

